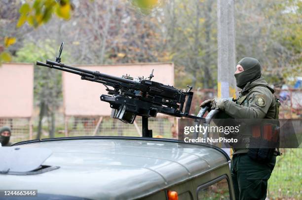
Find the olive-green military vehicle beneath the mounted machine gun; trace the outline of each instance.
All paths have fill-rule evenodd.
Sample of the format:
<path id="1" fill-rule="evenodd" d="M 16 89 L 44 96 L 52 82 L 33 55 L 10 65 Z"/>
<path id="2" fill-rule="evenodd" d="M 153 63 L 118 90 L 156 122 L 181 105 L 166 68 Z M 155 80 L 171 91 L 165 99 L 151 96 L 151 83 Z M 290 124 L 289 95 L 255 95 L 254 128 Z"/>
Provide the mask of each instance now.
<path id="1" fill-rule="evenodd" d="M 168 200 L 169 191 L 177 192 L 179 200 L 234 199 L 229 158 L 210 145 L 91 136 L 30 140 L 10 148 L 16 147 L 37 148 L 37 154 L 40 148 L 51 150 L 41 166 L 57 168 L 2 173 L 2 190 L 38 190 L 40 197 L 59 199 Z"/>

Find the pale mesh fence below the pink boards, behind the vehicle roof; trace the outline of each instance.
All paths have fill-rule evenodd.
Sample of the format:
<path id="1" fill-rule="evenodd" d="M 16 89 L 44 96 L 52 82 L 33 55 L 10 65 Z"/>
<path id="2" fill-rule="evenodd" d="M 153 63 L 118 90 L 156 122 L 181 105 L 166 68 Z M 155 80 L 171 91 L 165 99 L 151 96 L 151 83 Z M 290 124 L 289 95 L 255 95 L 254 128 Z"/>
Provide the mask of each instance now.
<path id="1" fill-rule="evenodd" d="M 102 118 L 100 122 L 100 118 Z M 19 141 L 36 139 L 38 132 L 38 119 L 34 118 L 32 125 L 32 136 L 30 136 L 30 119 L 13 118 L 0 119 L 0 127 L 8 126 L 11 128 L 12 143 Z M 41 138 L 48 138 L 48 120 L 43 119 Z M 134 124 L 125 124 L 110 117 L 69 117 L 64 120 L 62 113 L 56 114 L 55 137 L 64 136 L 141 136 L 142 119 L 137 117 Z M 153 137 L 177 138 L 176 118 L 150 118 L 149 129 L 153 132 Z M 67 133 L 66 133 L 67 132 Z"/>

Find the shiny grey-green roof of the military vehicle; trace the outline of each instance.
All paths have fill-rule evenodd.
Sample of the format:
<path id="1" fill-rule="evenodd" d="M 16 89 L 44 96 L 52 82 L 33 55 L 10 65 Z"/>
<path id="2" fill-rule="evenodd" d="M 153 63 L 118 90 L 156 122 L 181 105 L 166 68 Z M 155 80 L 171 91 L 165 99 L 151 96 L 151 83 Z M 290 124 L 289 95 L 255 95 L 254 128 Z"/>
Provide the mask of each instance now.
<path id="1" fill-rule="evenodd" d="M 217 149 L 176 142 L 78 139 L 18 145 L 47 148 L 42 165 L 60 168 L 35 175 L 0 174 L 0 189 L 88 199 L 136 199 L 227 164 Z"/>

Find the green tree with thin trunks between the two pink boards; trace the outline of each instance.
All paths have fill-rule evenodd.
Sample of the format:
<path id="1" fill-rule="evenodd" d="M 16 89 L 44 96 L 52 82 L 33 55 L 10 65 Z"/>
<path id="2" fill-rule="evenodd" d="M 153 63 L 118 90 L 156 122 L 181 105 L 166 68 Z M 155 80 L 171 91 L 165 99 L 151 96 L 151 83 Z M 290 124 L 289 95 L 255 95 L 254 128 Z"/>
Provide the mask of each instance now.
<path id="1" fill-rule="evenodd" d="M 56 51 L 52 47 L 52 42 L 46 40 L 43 41 L 43 44 L 47 49 L 46 51 L 33 43 L 26 43 L 17 52 L 15 61 L 32 63 L 54 57 Z M 41 137 L 42 119 L 45 115 L 50 119 L 48 122 L 49 137 L 52 138 L 55 136 L 55 112 L 62 101 L 61 71 L 36 66 L 34 75 L 34 97 L 35 102 L 40 107 L 37 139 Z"/>

